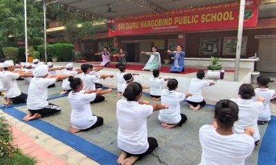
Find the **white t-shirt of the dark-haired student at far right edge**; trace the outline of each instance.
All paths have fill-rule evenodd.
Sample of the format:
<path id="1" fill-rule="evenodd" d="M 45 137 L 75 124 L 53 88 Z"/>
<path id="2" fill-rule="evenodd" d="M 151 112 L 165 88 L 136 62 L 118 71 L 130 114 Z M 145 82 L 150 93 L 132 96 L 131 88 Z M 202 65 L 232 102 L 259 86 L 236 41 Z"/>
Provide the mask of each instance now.
<path id="1" fill-rule="evenodd" d="M 268 121 L 270 120 L 270 99 L 273 98 L 273 95 L 275 94 L 275 90 L 273 89 L 261 89 L 261 88 L 256 88 L 255 89 L 255 97 L 253 98 L 254 101 L 257 101 L 257 98 L 259 96 L 264 97 L 264 109 L 259 113 L 258 120 L 261 121 Z"/>

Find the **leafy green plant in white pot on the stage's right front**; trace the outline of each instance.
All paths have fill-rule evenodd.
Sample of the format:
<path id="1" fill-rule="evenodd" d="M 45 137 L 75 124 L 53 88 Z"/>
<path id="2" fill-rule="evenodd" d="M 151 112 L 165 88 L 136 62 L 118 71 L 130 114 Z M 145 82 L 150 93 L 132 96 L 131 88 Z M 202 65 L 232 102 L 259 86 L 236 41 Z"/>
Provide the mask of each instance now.
<path id="1" fill-rule="evenodd" d="M 221 64 L 219 64 L 219 58 L 211 56 L 211 63 L 208 65 L 207 77 L 209 79 L 217 80 L 220 78 L 220 70 L 222 69 Z"/>

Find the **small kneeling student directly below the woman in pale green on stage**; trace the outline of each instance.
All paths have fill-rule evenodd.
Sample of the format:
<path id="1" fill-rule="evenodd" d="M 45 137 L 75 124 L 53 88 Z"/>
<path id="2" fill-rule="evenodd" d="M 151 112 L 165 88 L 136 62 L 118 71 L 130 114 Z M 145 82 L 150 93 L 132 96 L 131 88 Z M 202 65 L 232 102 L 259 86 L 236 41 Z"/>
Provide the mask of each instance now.
<path id="1" fill-rule="evenodd" d="M 152 100 L 160 100 L 162 85 L 166 80 L 170 80 L 170 78 L 160 78 L 158 69 L 153 69 L 152 74 L 153 78 L 150 78 L 150 97 Z"/>

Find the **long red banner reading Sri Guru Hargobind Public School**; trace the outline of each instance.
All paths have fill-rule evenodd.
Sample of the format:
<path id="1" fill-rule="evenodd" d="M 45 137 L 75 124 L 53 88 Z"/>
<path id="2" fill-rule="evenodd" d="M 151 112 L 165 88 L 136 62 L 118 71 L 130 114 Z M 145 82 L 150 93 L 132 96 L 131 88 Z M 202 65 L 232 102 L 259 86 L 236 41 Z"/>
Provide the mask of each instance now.
<path id="1" fill-rule="evenodd" d="M 244 27 L 257 25 L 257 0 L 246 1 Z M 144 14 L 112 20 L 109 35 L 148 34 L 199 30 L 219 30 L 237 28 L 239 21 L 239 2 L 205 5 L 185 8 L 159 14 Z"/>

